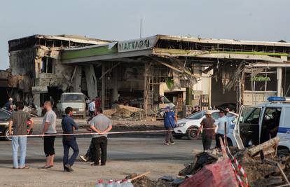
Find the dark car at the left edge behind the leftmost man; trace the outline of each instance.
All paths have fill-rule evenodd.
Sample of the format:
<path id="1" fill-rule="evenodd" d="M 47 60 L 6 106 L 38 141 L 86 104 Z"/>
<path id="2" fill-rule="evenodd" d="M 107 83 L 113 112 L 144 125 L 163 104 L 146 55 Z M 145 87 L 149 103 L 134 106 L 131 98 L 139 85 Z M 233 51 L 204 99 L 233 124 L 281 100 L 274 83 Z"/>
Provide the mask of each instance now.
<path id="1" fill-rule="evenodd" d="M 8 130 L 8 120 L 11 118 L 11 111 L 6 111 L 5 109 L 0 109 L 0 134 L 1 136 L 5 136 L 6 140 L 11 140 L 11 137 L 9 137 L 9 130 Z M 31 125 L 30 120 L 27 120 L 27 130 L 29 129 L 29 126 Z M 29 134 L 32 134 L 33 129 L 30 130 Z M 13 127 L 12 127 L 12 133 L 13 133 Z"/>

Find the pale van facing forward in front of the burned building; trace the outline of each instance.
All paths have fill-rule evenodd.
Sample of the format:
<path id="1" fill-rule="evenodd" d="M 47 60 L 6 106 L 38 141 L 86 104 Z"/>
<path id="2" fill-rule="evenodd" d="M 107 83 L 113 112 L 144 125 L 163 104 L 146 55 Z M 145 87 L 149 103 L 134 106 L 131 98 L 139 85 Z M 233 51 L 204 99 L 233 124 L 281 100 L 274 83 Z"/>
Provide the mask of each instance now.
<path id="1" fill-rule="evenodd" d="M 74 116 L 82 116 L 85 119 L 85 95 L 81 92 L 66 92 L 60 97 L 60 109 L 62 115 L 65 114 L 64 110 L 70 106 L 74 109 Z"/>

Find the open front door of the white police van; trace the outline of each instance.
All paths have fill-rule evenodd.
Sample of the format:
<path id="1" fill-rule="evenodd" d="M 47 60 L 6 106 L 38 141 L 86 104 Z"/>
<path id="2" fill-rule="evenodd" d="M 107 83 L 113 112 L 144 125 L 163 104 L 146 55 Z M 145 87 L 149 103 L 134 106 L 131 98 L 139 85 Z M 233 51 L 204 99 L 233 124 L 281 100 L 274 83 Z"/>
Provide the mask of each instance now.
<path id="1" fill-rule="evenodd" d="M 260 106 L 242 106 L 234 129 L 238 148 L 259 144 L 261 111 Z"/>

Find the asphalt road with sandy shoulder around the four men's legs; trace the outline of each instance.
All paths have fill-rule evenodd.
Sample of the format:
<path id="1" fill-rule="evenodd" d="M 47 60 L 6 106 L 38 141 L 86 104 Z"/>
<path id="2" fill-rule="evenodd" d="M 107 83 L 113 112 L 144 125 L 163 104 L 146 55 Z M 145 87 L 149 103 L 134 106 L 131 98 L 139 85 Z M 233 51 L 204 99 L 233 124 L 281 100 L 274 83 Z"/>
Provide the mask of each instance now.
<path id="1" fill-rule="evenodd" d="M 78 137 L 80 154 L 87 151 L 89 137 Z M 97 179 L 123 179 L 134 172 L 151 171 L 149 177 L 158 179 L 163 175 L 177 176 L 184 163 L 191 162 L 193 150 L 202 150 L 200 140 L 178 139 L 165 146 L 164 134 L 123 134 L 109 137 L 108 162 L 105 167 L 92 167 L 79 158 L 73 173 L 64 173 L 62 168 L 62 138 L 55 141 L 55 167 L 44 170 L 43 140 L 27 140 L 27 165 L 30 169 L 13 167 L 11 142 L 0 141 L 1 186 L 94 186 Z M 13 178 L 11 178 L 14 176 Z M 15 178 L 17 176 L 17 178 Z M 11 180 L 10 180 L 11 179 Z"/>

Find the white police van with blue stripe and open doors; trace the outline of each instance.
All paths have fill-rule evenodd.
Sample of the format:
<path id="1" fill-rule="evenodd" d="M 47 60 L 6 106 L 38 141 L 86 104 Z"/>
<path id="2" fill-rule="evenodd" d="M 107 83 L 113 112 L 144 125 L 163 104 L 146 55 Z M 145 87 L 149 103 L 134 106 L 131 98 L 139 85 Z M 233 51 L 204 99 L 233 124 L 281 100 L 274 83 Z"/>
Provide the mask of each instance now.
<path id="1" fill-rule="evenodd" d="M 279 137 L 278 149 L 290 151 L 290 99 L 269 97 L 268 104 L 242 106 L 233 131 L 238 148 Z"/>

